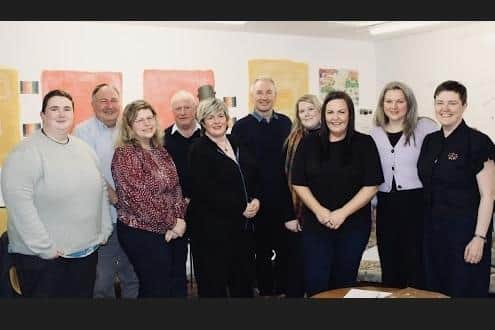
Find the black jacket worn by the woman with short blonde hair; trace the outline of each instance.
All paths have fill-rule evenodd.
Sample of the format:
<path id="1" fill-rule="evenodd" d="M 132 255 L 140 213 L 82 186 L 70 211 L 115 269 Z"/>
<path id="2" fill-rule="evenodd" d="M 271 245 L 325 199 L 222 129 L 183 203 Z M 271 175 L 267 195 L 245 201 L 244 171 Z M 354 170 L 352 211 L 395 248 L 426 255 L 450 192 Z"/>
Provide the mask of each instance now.
<path id="1" fill-rule="evenodd" d="M 258 198 L 259 174 L 254 158 L 237 139 L 230 135 L 227 138 L 239 165 L 207 136 L 200 137 L 191 146 L 188 227 L 193 240 L 235 239 L 249 221 L 242 215 L 247 203 Z"/>

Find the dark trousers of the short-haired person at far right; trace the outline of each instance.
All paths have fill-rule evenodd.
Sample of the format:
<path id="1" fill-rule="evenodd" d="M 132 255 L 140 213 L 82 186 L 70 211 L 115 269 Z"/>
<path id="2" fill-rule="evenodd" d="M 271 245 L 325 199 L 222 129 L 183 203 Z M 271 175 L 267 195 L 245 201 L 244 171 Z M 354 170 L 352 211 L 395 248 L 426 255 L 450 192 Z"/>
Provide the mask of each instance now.
<path id="1" fill-rule="evenodd" d="M 477 264 L 464 261 L 474 235 L 473 217 L 433 216 L 425 223 L 425 270 L 428 290 L 455 298 L 487 297 L 490 286 L 491 231 Z"/>

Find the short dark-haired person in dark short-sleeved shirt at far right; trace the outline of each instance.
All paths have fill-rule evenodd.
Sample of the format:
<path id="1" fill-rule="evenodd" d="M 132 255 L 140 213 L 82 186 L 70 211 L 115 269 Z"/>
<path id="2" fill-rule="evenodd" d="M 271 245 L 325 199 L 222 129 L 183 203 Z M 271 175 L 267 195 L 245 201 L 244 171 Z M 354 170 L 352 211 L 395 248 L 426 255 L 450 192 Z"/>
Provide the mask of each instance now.
<path id="1" fill-rule="evenodd" d="M 494 145 L 466 125 L 466 87 L 445 81 L 434 93 L 442 129 L 426 136 L 418 160 L 425 188 L 425 268 L 429 290 L 485 297 L 490 284 Z"/>

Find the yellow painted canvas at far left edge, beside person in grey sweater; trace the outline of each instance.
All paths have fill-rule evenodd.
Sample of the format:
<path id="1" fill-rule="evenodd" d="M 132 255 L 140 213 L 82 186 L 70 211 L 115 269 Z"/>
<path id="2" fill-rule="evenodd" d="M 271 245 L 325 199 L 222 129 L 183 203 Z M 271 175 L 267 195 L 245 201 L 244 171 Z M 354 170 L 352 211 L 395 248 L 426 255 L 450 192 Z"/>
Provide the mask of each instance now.
<path id="1" fill-rule="evenodd" d="M 0 67 L 0 167 L 20 140 L 19 76 L 16 70 Z M 7 212 L 0 209 L 0 232 L 6 221 Z"/>

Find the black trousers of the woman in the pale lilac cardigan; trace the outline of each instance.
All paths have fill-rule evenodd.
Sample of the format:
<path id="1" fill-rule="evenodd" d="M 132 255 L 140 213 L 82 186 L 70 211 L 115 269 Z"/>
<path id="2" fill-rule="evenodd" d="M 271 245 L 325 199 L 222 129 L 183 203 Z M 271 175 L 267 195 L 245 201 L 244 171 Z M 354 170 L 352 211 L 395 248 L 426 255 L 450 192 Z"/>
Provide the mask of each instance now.
<path id="1" fill-rule="evenodd" d="M 376 238 L 384 285 L 424 289 L 423 189 L 378 193 Z"/>

